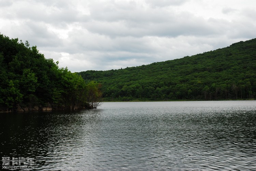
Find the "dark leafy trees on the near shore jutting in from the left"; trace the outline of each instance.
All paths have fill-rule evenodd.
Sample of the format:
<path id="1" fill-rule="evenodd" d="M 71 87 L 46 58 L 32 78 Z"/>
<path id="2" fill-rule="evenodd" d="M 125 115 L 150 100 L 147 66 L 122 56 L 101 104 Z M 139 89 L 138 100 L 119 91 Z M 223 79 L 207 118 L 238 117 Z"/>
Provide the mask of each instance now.
<path id="1" fill-rule="evenodd" d="M 0 34 L 0 111 L 96 108 L 100 87 L 59 68 L 28 41 Z"/>

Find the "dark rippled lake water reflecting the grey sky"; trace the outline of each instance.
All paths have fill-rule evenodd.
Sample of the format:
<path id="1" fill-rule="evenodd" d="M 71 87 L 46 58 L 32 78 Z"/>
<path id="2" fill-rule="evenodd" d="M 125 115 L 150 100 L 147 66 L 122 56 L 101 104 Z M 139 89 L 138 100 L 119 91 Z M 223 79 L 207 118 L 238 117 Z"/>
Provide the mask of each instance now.
<path id="1" fill-rule="evenodd" d="M 103 103 L 0 118 L 0 157 L 33 157 L 35 170 L 256 170 L 256 101 Z"/>

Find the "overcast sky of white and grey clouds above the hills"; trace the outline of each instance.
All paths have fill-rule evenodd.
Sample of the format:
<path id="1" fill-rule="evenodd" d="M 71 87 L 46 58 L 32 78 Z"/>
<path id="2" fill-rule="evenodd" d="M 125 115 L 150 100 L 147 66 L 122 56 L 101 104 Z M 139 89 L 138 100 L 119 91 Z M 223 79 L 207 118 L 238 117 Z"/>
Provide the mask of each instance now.
<path id="1" fill-rule="evenodd" d="M 71 72 L 140 66 L 256 38 L 255 0 L 0 0 L 0 33 Z"/>

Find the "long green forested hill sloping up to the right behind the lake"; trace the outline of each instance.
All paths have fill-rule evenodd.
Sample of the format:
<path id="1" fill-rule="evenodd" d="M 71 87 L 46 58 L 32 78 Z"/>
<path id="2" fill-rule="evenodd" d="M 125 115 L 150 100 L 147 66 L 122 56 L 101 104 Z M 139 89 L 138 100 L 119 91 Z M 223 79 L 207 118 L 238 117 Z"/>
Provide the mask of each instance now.
<path id="1" fill-rule="evenodd" d="M 108 100 L 217 100 L 256 97 L 256 38 L 182 59 L 85 71 Z"/>

